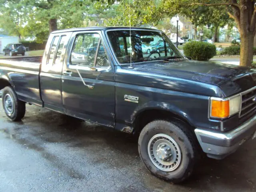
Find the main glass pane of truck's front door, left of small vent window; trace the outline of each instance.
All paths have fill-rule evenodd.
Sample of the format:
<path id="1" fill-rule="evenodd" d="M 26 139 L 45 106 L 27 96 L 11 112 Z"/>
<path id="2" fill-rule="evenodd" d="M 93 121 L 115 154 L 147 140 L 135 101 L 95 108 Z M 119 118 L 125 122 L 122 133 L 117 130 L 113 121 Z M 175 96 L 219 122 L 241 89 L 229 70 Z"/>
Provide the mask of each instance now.
<path id="1" fill-rule="evenodd" d="M 70 64 L 94 66 L 99 40 L 100 35 L 96 33 L 77 35 L 71 52 Z"/>

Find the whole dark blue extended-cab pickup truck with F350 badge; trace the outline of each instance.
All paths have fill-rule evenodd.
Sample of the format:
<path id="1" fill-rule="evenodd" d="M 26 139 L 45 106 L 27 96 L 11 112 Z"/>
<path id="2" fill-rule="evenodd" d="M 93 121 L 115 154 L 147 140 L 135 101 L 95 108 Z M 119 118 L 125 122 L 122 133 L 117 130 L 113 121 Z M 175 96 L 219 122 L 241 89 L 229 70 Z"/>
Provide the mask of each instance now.
<path id="1" fill-rule="evenodd" d="M 164 43 L 162 52 L 142 45 Z M 0 60 L 6 115 L 25 104 L 127 133 L 150 172 L 181 182 L 201 151 L 221 159 L 255 137 L 256 71 L 186 58 L 161 31 L 91 27 L 49 36 L 43 57 Z"/>

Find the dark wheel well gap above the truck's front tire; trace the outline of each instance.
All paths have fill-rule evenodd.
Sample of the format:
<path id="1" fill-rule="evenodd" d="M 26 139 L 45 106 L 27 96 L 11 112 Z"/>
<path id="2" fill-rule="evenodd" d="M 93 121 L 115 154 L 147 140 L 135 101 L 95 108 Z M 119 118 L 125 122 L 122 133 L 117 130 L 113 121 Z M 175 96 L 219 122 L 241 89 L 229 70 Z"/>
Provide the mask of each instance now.
<path id="1" fill-rule="evenodd" d="M 134 133 L 140 134 L 141 130 L 148 124 L 149 122 L 152 122 L 153 120 L 180 120 L 182 123 L 186 124 L 187 126 L 191 127 L 192 130 L 194 130 L 194 126 L 192 126 L 186 119 L 182 118 L 181 116 L 167 111 L 167 110 L 159 110 L 159 109 L 150 109 L 145 110 L 144 112 L 141 112 L 138 114 L 138 116 L 135 118 L 133 127 L 134 127 Z"/>

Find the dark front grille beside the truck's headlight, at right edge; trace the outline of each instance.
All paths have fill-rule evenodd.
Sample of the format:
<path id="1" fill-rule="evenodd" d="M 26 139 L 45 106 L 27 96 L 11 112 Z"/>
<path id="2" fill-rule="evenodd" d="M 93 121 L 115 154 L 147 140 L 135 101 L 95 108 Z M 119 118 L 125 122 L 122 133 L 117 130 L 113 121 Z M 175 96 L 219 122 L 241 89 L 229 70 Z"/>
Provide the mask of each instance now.
<path id="1" fill-rule="evenodd" d="M 240 111 L 240 118 L 247 116 L 256 110 L 256 88 L 249 89 L 241 93 L 242 107 Z"/>

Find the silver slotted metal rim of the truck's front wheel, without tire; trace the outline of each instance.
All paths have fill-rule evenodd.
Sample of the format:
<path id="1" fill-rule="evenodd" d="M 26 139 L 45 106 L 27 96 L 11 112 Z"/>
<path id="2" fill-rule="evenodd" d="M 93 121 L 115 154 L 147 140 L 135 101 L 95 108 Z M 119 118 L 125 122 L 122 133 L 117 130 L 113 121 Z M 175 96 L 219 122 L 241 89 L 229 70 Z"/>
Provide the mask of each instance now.
<path id="1" fill-rule="evenodd" d="M 156 134 L 150 139 L 148 155 L 157 168 L 166 172 L 176 170 L 182 159 L 178 143 L 166 134 Z"/>

